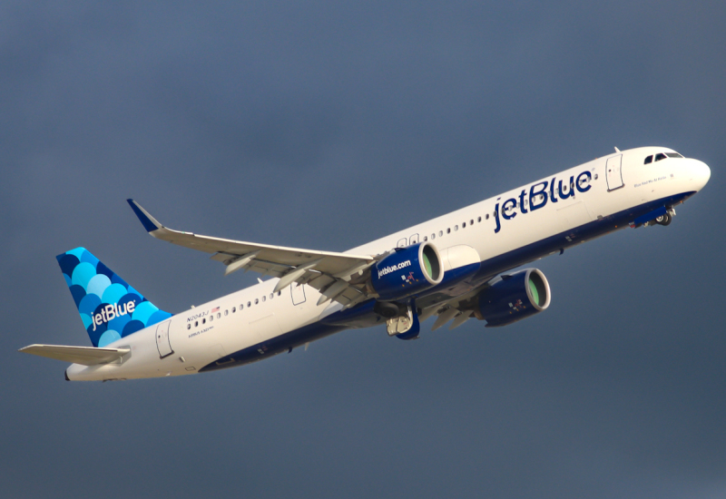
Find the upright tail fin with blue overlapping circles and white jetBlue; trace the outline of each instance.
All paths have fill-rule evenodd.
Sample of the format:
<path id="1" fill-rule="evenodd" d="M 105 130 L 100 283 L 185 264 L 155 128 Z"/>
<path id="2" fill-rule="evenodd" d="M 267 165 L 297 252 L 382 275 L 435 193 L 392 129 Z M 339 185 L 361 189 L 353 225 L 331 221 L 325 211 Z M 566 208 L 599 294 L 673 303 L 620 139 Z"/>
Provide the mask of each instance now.
<path id="1" fill-rule="evenodd" d="M 105 347 L 172 317 L 143 298 L 88 249 L 71 249 L 55 258 L 93 347 Z"/>

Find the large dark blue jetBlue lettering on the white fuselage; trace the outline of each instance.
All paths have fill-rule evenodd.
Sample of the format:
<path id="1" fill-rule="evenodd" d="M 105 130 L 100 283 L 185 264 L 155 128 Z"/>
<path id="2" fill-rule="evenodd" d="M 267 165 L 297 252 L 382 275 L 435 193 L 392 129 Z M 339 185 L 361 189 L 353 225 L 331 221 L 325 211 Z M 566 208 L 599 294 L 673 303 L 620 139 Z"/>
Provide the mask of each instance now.
<path id="1" fill-rule="evenodd" d="M 569 184 L 563 181 L 557 181 L 556 177 L 553 177 L 551 181 L 537 182 L 529 188 L 529 196 L 527 196 L 527 190 L 523 189 L 519 193 L 517 198 L 510 198 L 504 201 L 502 204 L 502 218 L 504 220 L 512 220 L 516 217 L 516 208 L 522 214 L 526 214 L 530 211 L 539 210 L 543 208 L 547 201 L 557 202 L 560 200 L 566 200 L 567 198 L 574 197 L 574 190 L 578 192 L 590 191 L 592 187 L 590 181 L 593 179 L 593 174 L 590 171 L 583 171 L 577 175 L 575 180 L 574 175 L 570 177 Z M 556 188 L 555 188 L 556 185 Z M 525 206 L 525 199 L 529 200 L 529 209 Z M 498 201 L 498 200 L 497 200 Z M 502 222 L 499 220 L 499 203 L 497 202 L 494 208 L 494 218 L 496 221 L 495 233 L 502 230 Z"/>

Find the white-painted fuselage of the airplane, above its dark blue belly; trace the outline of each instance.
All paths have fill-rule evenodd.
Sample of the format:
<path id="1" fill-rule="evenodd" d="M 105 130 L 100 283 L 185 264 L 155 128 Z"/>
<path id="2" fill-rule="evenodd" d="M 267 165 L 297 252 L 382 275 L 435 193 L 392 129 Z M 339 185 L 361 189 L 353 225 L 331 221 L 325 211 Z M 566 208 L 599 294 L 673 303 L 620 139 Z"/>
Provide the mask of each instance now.
<path id="1" fill-rule="evenodd" d="M 494 272 L 511 269 L 559 247 L 571 247 L 620 229 L 643 214 L 633 214 L 628 220 L 628 210 L 662 200 L 672 199 L 675 202 L 671 204 L 677 204 L 700 191 L 709 180 L 708 166 L 697 160 L 669 158 L 643 164 L 645 157 L 659 152 L 672 151 L 652 147 L 616 152 L 348 252 L 377 255 L 428 240 L 440 251 L 473 248 L 479 261 L 491 262 Z M 582 183 L 573 189 L 571 178 L 575 182 L 579 178 Z M 571 191 L 574 195 L 563 199 Z M 530 199 L 531 193 L 535 199 Z M 602 229 L 598 229 L 600 222 Z M 584 226 L 589 229 L 569 232 Z M 555 237 L 561 238 L 561 243 Z M 293 284 L 273 293 L 277 281 L 270 279 L 173 316 L 168 324 L 168 344 L 157 341 L 157 329 L 167 327 L 165 321 L 163 326 L 156 324 L 108 345 L 131 348 L 123 362 L 91 367 L 74 364 L 66 370 L 66 376 L 72 380 L 99 380 L 195 374 L 255 346 L 260 346 L 257 359 L 261 359 L 265 358 L 267 340 L 306 328 L 312 330 L 342 308 L 331 302 L 318 306 L 319 292 L 309 286 Z M 468 292 L 479 285 L 480 281 L 472 280 L 457 292 Z"/>

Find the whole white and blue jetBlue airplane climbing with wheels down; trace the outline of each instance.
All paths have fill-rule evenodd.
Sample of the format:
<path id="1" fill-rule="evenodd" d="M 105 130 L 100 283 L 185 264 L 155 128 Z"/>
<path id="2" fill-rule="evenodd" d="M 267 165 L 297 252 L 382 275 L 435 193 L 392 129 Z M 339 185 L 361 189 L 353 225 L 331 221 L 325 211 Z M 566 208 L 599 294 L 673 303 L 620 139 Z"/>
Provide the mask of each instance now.
<path id="1" fill-rule="evenodd" d="M 177 314 L 163 311 L 87 249 L 58 263 L 93 347 L 19 351 L 72 363 L 66 380 L 172 377 L 290 352 L 350 328 L 418 338 L 470 318 L 503 327 L 549 307 L 539 269 L 518 269 L 627 227 L 667 226 L 711 170 L 664 147 L 619 151 L 343 253 L 172 230 L 133 200 L 154 238 L 211 254 L 259 283 Z"/>

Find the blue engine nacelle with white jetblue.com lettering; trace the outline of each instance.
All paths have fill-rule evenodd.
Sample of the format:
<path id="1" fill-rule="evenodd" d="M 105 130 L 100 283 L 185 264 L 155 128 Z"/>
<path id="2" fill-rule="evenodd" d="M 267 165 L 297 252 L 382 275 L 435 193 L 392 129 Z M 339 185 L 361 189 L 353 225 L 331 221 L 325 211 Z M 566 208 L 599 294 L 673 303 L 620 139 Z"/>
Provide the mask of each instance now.
<path id="1" fill-rule="evenodd" d="M 444 264 L 430 242 L 397 248 L 370 269 L 370 286 L 383 301 L 412 297 L 443 279 Z"/>

